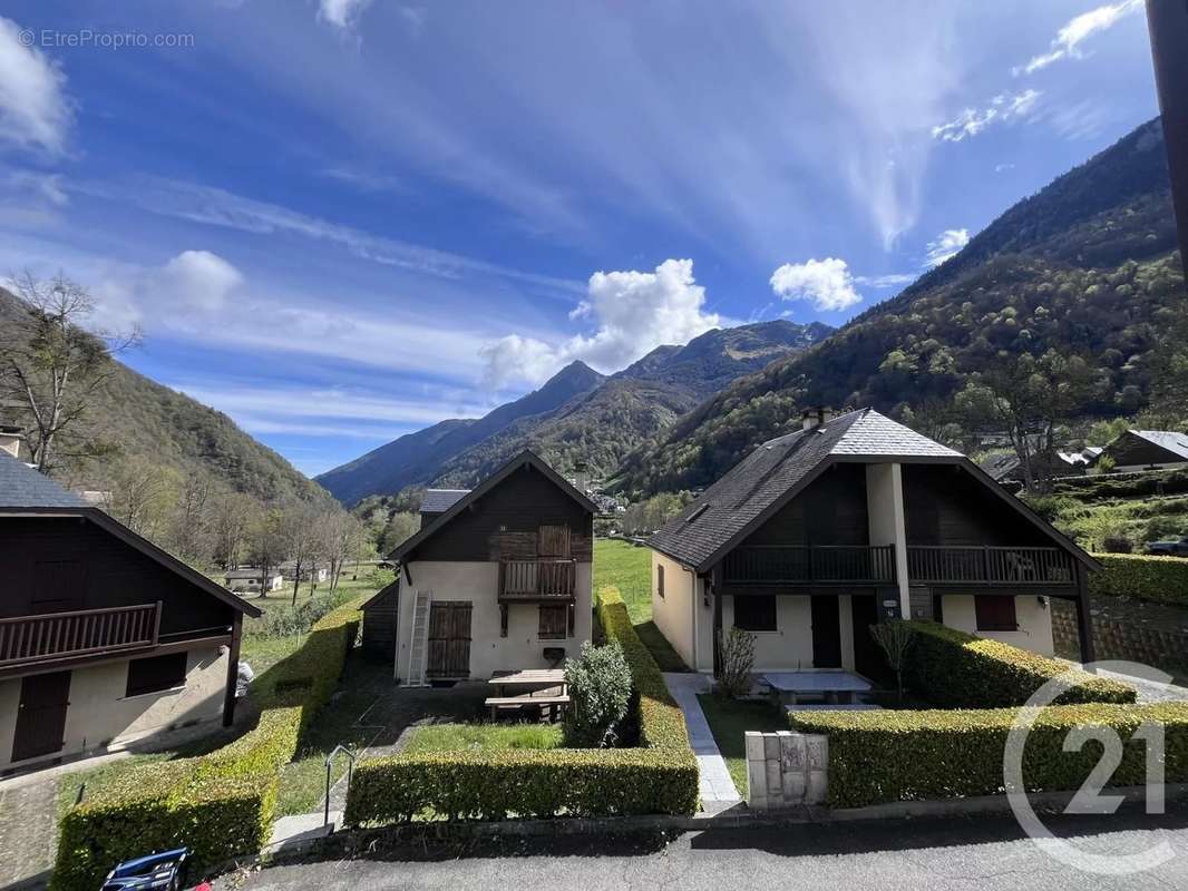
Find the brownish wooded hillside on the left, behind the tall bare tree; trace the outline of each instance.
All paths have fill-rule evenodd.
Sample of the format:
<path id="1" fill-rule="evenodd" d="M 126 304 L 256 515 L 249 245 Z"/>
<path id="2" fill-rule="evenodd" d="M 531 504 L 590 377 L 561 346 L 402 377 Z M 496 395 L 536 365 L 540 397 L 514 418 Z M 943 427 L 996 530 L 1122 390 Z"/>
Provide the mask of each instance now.
<path id="1" fill-rule="evenodd" d="M 0 324 L 12 324 L 23 312 L 18 298 L 0 289 Z M 20 421 L 14 407 L 5 413 Z M 143 474 L 151 467 L 183 479 L 197 475 L 261 501 L 328 500 L 321 487 L 229 417 L 120 361 L 113 361 L 94 394 L 86 426 L 88 437 L 114 450 L 102 460 L 62 468 L 56 475 L 68 485 L 110 489 L 121 476 Z"/>

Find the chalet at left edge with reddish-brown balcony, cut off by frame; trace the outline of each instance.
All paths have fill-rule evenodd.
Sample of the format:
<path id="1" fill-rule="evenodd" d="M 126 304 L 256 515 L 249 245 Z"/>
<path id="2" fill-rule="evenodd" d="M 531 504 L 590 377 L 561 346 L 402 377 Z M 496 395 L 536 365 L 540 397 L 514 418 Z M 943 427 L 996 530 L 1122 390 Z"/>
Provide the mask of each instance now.
<path id="1" fill-rule="evenodd" d="M 0 455 L 0 770 L 229 725 L 259 611 Z"/>

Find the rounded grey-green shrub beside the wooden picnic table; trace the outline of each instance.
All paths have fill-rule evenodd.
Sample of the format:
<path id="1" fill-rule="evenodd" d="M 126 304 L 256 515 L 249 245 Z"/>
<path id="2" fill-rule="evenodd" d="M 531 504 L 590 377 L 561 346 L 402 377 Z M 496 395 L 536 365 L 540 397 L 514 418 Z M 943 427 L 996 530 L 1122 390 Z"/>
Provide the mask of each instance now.
<path id="1" fill-rule="evenodd" d="M 614 744 L 614 729 L 627 714 L 631 701 L 631 672 L 623 646 L 609 640 L 594 646 L 582 644 L 579 659 L 565 662 L 569 708 L 565 709 L 565 745 L 573 748 L 602 748 Z"/>

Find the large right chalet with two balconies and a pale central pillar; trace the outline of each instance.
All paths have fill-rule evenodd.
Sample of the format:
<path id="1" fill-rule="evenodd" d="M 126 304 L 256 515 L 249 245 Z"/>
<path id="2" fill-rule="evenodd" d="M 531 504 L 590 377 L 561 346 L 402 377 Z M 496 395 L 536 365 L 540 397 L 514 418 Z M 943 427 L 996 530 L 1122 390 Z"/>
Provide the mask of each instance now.
<path id="1" fill-rule="evenodd" d="M 649 544 L 656 625 L 700 671 L 738 627 L 757 671 L 870 675 L 868 628 L 898 617 L 1050 655 L 1050 598 L 1075 604 L 1092 659 L 1097 563 L 963 455 L 871 409 L 764 443 Z"/>

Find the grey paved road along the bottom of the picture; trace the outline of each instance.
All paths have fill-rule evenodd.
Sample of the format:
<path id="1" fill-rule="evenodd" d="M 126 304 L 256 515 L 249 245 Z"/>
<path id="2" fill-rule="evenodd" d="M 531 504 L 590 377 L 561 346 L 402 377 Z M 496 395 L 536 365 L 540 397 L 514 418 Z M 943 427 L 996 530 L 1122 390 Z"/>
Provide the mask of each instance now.
<path id="1" fill-rule="evenodd" d="M 1055 832 L 1099 853 L 1124 853 L 1168 840 L 1175 859 L 1136 876 L 1070 868 L 1022 836 L 1009 817 L 884 821 L 719 829 L 676 838 L 569 838 L 487 842 L 468 849 L 378 851 L 366 860 L 276 866 L 227 877 L 223 889 L 1102 889 L 1188 887 L 1188 811 L 1049 820 Z"/>

